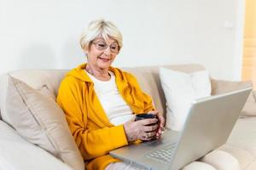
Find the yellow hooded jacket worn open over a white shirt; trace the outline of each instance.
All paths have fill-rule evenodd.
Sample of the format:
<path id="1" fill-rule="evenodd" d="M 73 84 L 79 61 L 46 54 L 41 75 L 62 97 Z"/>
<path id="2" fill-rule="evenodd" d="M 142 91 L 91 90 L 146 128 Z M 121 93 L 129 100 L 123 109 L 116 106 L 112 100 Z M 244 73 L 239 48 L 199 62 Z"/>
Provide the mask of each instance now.
<path id="1" fill-rule="evenodd" d="M 94 84 L 84 71 L 86 64 L 69 71 L 61 82 L 57 103 L 66 114 L 73 138 L 86 161 L 86 169 L 105 169 L 119 161 L 109 156 L 110 150 L 128 144 L 123 125 L 108 121 L 94 91 Z M 152 99 L 144 94 L 130 73 L 110 67 L 116 78 L 119 93 L 134 113 L 154 110 Z M 128 121 L 128 120 L 127 120 Z"/>

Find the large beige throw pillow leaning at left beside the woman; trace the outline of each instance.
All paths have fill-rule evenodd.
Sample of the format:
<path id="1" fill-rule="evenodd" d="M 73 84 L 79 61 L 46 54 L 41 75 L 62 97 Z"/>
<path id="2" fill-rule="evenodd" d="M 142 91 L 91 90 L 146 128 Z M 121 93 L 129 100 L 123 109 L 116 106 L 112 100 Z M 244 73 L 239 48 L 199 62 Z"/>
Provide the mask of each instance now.
<path id="1" fill-rule="evenodd" d="M 84 169 L 84 161 L 69 131 L 65 115 L 54 99 L 9 77 L 6 111 L 11 126 L 26 140 L 49 151 L 74 169 Z"/>

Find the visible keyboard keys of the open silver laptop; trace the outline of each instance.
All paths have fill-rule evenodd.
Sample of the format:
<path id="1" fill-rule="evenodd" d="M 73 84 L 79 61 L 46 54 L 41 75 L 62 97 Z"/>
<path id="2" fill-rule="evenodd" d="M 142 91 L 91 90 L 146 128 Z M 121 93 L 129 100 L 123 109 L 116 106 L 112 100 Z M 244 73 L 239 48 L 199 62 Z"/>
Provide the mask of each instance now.
<path id="1" fill-rule="evenodd" d="M 169 145 L 165 149 L 155 150 L 154 152 L 148 153 L 146 156 L 156 161 L 168 163 L 171 161 L 172 155 L 175 150 L 175 146 L 176 144 Z"/>

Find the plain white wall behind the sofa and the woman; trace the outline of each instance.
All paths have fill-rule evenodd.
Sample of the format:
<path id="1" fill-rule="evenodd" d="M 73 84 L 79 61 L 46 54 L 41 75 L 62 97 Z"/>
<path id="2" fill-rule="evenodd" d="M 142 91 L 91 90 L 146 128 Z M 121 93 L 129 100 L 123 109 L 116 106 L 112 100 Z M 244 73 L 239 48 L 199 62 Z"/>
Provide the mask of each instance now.
<path id="1" fill-rule="evenodd" d="M 100 17 L 124 36 L 115 66 L 199 63 L 241 77 L 241 0 L 0 0 L 0 73 L 84 62 L 80 33 Z"/>

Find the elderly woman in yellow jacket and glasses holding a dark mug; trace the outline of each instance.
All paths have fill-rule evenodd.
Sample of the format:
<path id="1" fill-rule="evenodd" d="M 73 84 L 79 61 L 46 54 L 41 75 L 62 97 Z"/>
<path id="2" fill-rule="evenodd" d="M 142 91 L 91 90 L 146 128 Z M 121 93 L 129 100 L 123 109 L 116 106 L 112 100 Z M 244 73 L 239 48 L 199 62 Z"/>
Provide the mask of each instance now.
<path id="1" fill-rule="evenodd" d="M 116 26 L 92 21 L 80 44 L 87 63 L 67 73 L 57 103 L 66 114 L 86 169 L 137 169 L 109 156 L 109 151 L 137 140 L 159 139 L 164 118 L 135 77 L 111 66 L 123 45 Z M 138 113 L 153 113 L 157 118 L 135 122 Z"/>

